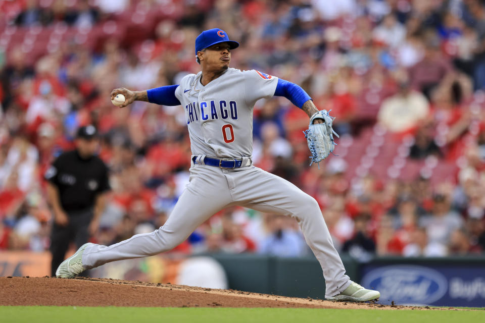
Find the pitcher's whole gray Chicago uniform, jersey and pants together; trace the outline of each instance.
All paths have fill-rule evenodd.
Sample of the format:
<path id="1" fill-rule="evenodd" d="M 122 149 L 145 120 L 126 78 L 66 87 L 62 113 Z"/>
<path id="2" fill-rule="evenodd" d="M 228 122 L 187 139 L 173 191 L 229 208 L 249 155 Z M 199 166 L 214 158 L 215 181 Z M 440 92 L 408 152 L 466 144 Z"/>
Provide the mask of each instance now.
<path id="1" fill-rule="evenodd" d="M 167 222 L 152 233 L 139 234 L 111 246 L 89 245 L 82 254 L 85 269 L 104 263 L 155 255 L 184 241 L 214 213 L 233 205 L 294 217 L 320 262 L 327 297 L 351 282 L 333 247 L 316 200 L 292 183 L 251 164 L 253 106 L 274 95 L 277 78 L 258 71 L 229 68 L 206 86 L 202 72 L 185 76 L 175 95 L 187 117 L 191 149 L 190 179 Z M 241 158 L 243 167 L 207 166 L 201 156 Z M 247 163 L 246 163 L 247 162 Z"/>

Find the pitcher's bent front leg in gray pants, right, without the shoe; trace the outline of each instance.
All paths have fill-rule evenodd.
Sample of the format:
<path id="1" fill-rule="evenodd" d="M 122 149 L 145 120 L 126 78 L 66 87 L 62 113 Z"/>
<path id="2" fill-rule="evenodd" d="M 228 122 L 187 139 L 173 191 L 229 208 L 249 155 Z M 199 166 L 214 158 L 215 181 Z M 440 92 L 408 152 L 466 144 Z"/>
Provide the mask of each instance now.
<path id="1" fill-rule="evenodd" d="M 256 182 L 258 186 L 251 184 Z M 236 179 L 237 199 L 250 201 L 244 206 L 295 217 L 307 244 L 320 262 L 325 277 L 327 297 L 336 295 L 350 285 L 344 264 L 333 246 L 330 232 L 317 201 L 292 183 L 260 169 L 254 169 Z"/>

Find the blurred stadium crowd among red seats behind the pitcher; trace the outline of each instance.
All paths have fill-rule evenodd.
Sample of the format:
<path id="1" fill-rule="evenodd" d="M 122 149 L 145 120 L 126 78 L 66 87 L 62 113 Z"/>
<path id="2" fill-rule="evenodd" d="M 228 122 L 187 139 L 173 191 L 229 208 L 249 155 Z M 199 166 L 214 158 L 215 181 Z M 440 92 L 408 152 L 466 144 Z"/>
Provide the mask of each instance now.
<path id="1" fill-rule="evenodd" d="M 49 248 L 43 174 L 87 124 L 101 133 L 112 188 L 92 241 L 164 224 L 188 181 L 184 111 L 118 109 L 110 92 L 197 73 L 195 38 L 215 27 L 241 43 L 232 67 L 300 84 L 336 117 L 337 156 L 309 167 L 306 114 L 284 98 L 258 101 L 254 164 L 317 199 L 340 252 L 485 252 L 480 0 L 1 2 L 0 250 Z M 294 219 L 235 207 L 172 252 L 311 251 Z"/>

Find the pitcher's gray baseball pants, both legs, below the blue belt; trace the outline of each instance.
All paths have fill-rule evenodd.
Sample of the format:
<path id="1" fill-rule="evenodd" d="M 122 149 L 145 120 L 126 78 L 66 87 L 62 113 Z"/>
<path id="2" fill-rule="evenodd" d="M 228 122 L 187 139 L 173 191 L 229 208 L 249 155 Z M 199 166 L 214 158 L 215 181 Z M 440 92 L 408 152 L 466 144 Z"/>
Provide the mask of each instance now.
<path id="1" fill-rule="evenodd" d="M 165 225 L 111 246 L 87 247 L 82 255 L 83 266 L 90 269 L 171 250 L 214 213 L 233 205 L 294 217 L 322 266 L 325 296 L 334 296 L 350 285 L 315 199 L 292 183 L 253 166 L 229 170 L 192 165 L 189 184 Z"/>

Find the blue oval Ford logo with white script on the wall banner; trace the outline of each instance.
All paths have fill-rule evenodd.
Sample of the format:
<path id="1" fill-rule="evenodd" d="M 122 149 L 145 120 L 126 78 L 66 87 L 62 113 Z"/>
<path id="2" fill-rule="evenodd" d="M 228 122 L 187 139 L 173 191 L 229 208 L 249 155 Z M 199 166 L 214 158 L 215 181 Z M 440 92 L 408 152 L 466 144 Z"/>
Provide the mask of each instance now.
<path id="1" fill-rule="evenodd" d="M 378 290 L 383 301 L 416 305 L 431 304 L 448 290 L 448 281 L 440 272 L 413 265 L 376 268 L 362 278 L 362 285 Z"/>

